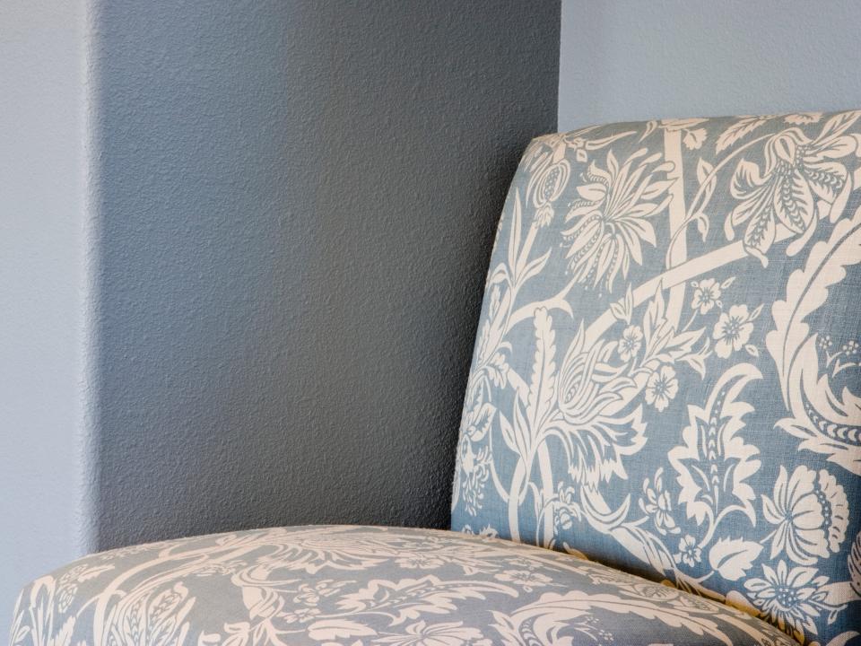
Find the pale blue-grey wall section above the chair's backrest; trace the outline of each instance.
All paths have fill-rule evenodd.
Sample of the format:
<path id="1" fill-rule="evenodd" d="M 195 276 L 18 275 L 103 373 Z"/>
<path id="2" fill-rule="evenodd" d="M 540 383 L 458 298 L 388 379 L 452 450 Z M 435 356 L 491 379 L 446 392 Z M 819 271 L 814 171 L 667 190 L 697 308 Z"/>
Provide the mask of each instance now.
<path id="1" fill-rule="evenodd" d="M 559 127 L 861 106 L 857 0 L 563 0 Z"/>

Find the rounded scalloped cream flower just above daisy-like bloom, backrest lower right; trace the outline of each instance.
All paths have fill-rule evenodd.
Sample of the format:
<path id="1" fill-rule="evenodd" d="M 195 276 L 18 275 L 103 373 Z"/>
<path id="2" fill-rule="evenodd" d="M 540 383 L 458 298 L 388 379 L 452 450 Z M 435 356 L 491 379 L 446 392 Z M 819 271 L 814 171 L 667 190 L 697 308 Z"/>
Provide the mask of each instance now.
<path id="1" fill-rule="evenodd" d="M 762 496 L 765 519 L 778 528 L 770 534 L 771 558 L 781 552 L 796 563 L 813 565 L 839 551 L 846 538 L 849 508 L 837 479 L 821 469 L 801 465 L 792 476 L 780 467 L 774 499 Z"/>

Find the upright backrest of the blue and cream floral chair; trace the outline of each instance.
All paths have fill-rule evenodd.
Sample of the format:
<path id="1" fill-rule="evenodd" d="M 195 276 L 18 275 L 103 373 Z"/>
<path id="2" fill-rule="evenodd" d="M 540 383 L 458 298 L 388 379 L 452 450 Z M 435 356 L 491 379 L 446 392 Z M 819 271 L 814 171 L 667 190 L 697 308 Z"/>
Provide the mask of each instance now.
<path id="1" fill-rule="evenodd" d="M 669 581 L 801 642 L 861 631 L 859 117 L 529 144 L 491 256 L 453 529 Z"/>

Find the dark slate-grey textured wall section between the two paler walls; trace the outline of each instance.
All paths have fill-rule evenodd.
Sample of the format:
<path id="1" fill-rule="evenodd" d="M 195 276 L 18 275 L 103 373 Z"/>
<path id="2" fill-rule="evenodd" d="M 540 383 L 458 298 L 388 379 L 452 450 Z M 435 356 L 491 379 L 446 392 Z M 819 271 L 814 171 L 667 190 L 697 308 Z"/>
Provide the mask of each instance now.
<path id="1" fill-rule="evenodd" d="M 448 524 L 558 3 L 100 4 L 98 547 Z"/>

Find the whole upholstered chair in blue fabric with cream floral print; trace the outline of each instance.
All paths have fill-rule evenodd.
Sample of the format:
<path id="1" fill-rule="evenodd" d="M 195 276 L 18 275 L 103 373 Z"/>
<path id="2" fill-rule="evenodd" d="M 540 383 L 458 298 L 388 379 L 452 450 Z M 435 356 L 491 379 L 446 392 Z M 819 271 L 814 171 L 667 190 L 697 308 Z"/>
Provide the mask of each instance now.
<path id="1" fill-rule="evenodd" d="M 854 641 L 859 117 L 535 139 L 491 255 L 452 531 L 93 554 L 22 591 L 13 646 Z"/>

